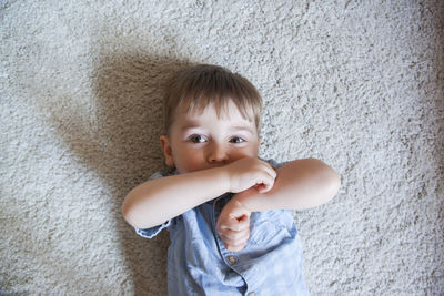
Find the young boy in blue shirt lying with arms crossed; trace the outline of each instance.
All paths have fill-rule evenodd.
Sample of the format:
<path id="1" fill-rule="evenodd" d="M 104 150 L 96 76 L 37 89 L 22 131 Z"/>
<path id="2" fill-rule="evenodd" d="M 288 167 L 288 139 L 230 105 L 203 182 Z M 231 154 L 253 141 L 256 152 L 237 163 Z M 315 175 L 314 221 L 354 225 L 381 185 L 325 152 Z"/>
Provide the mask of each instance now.
<path id="1" fill-rule="evenodd" d="M 289 210 L 326 203 L 339 175 L 307 159 L 258 157 L 262 99 L 221 67 L 179 71 L 165 93 L 167 165 L 123 202 L 139 235 L 168 228 L 170 295 L 306 295 L 301 242 Z"/>

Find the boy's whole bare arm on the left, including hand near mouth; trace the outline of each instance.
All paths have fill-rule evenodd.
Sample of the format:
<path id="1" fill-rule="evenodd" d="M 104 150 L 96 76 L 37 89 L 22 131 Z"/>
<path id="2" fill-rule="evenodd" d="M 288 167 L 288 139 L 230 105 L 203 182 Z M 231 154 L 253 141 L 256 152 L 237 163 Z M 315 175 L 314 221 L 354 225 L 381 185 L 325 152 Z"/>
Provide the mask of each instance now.
<path id="1" fill-rule="evenodd" d="M 229 165 L 167 176 L 133 188 L 122 206 L 123 216 L 138 228 L 150 228 L 226 192 L 242 192 L 255 184 L 273 186 L 274 170 L 248 157 Z"/>

